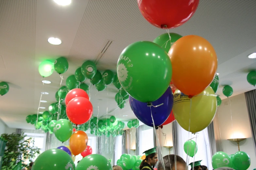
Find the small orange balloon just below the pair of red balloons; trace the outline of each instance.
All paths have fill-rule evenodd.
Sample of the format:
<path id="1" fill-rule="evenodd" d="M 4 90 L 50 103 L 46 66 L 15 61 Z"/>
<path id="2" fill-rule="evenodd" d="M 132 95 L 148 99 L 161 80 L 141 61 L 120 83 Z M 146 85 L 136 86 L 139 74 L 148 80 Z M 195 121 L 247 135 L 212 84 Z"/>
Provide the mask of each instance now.
<path id="1" fill-rule="evenodd" d="M 71 135 L 69 146 L 71 152 L 76 156 L 82 153 L 87 147 L 88 136 L 84 131 L 77 131 Z"/>

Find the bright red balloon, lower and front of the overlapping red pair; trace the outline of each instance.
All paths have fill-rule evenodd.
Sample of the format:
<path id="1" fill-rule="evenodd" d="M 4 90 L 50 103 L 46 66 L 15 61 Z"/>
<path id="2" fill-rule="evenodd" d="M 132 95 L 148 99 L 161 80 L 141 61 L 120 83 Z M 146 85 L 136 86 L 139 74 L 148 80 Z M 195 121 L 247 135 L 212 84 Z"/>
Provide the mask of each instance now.
<path id="1" fill-rule="evenodd" d="M 93 115 L 93 105 L 85 97 L 76 97 L 67 105 L 67 117 L 75 124 L 83 124 Z"/>

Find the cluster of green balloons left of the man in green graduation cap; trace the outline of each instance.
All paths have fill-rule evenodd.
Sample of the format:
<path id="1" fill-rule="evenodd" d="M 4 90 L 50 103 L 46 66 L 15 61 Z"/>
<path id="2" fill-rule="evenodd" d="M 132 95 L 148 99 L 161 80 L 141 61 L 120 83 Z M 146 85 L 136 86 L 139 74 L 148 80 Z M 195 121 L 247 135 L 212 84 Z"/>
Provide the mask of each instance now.
<path id="1" fill-rule="evenodd" d="M 118 166 L 121 166 L 123 170 L 140 170 L 140 164 L 142 162 L 141 156 L 123 154 L 120 159 L 116 161 Z"/>

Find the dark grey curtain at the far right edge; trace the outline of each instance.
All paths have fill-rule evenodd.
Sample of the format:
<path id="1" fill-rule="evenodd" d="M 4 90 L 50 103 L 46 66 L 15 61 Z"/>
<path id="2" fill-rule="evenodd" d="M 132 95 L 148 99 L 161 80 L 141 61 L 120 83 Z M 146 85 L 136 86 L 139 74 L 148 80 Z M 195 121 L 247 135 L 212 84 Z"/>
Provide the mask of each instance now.
<path id="1" fill-rule="evenodd" d="M 256 155 L 256 90 L 245 92 L 248 116 L 251 126 L 251 135 Z"/>

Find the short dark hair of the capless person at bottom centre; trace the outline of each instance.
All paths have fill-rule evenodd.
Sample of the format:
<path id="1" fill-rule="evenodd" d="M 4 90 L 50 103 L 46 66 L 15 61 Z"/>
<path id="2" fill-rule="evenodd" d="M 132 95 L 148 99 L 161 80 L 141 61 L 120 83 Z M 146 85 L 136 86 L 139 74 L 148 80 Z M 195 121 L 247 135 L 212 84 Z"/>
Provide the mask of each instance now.
<path id="1" fill-rule="evenodd" d="M 178 155 L 166 155 L 163 157 L 163 163 L 166 170 L 171 170 L 173 165 L 175 165 L 175 161 L 182 163 L 186 166 L 186 162 Z M 159 161 L 157 165 L 158 170 L 163 170 L 162 160 Z"/>

